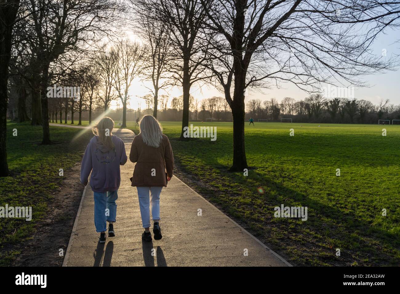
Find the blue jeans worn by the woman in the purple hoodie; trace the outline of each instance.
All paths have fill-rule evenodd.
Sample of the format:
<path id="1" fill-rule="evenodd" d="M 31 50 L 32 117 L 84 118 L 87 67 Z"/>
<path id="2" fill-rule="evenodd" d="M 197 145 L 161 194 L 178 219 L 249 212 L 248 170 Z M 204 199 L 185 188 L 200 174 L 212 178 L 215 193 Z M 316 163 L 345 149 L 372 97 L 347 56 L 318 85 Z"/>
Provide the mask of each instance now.
<path id="1" fill-rule="evenodd" d="M 93 192 L 94 194 L 94 225 L 96 232 L 105 232 L 107 230 L 107 221 L 115 222 L 117 216 L 118 199 L 117 191 L 111 192 Z"/>

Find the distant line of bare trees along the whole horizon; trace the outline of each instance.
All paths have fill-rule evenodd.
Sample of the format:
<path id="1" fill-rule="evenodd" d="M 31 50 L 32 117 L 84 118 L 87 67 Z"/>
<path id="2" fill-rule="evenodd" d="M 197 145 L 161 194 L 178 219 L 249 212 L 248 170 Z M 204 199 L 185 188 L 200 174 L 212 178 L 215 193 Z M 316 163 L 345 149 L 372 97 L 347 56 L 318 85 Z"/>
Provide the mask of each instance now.
<path id="1" fill-rule="evenodd" d="M 55 98 L 57 99 L 57 98 Z M 72 99 L 71 99 L 72 100 Z M 28 104 L 27 100 L 27 104 Z M 172 99 L 171 108 L 158 110 L 157 118 L 160 121 L 181 121 L 182 120 L 182 96 Z M 72 103 L 67 108 L 54 111 L 50 108 L 50 122 L 58 122 L 60 115 L 62 122 L 77 123 L 79 120 L 79 111 L 76 105 Z M 145 114 L 153 114 L 152 105 L 146 109 L 127 109 L 126 120 L 134 121 Z M 71 111 L 72 110 L 72 111 Z M 27 108 L 27 116 L 30 118 L 30 107 Z M 73 113 L 73 120 L 71 120 Z M 92 120 L 104 114 L 102 107 L 92 110 Z M 122 120 L 122 108 L 110 110 L 108 113 L 116 123 Z M 17 120 L 17 105 L 8 104 L 7 118 Z M 226 100 L 222 97 L 212 97 L 203 100 L 190 99 L 190 120 L 206 121 L 212 118 L 213 121 L 232 121 L 232 112 Z M 270 100 L 252 99 L 246 104 L 245 119 L 253 118 L 256 122 L 259 119 L 268 121 L 280 121 L 281 118 L 292 118 L 292 122 L 310 122 L 310 123 L 342 123 L 342 124 L 376 124 L 378 120 L 396 120 L 400 119 L 400 105 L 389 104 L 389 99 L 382 99 L 377 105 L 368 100 L 334 98 L 326 99 L 320 94 L 311 95 L 304 100 L 296 101 L 293 98 L 285 97 L 282 102 L 275 98 Z M 81 120 L 89 120 L 89 111 L 83 110 Z"/>

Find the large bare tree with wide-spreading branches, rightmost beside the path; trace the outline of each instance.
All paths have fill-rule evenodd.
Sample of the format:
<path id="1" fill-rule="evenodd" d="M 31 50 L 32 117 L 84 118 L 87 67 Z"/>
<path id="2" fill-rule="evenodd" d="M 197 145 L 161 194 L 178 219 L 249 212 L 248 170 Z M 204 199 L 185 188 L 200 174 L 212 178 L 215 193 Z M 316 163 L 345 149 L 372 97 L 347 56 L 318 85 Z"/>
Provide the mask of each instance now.
<path id="1" fill-rule="evenodd" d="M 233 114 L 232 171 L 247 168 L 244 92 L 249 86 L 292 82 L 312 93 L 318 92 L 322 82 L 338 78 L 362 85 L 358 76 L 393 65 L 372 56 L 368 49 L 379 32 L 396 23 L 397 2 L 200 1 L 212 42 L 208 60 L 217 64 L 213 71 Z M 371 28 L 360 30 L 360 23 Z"/>

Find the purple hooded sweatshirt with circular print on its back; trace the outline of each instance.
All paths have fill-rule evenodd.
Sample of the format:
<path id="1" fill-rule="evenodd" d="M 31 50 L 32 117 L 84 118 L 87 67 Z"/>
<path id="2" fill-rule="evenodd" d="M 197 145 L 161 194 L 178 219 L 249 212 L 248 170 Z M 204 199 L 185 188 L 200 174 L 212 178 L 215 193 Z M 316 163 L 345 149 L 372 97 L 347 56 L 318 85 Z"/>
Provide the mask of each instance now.
<path id="1" fill-rule="evenodd" d="M 90 176 L 90 186 L 94 192 L 116 191 L 120 187 L 120 165 L 126 160 L 125 144 L 117 136 L 111 137 L 115 148 L 104 146 L 98 136 L 90 139 L 80 167 L 80 182 L 85 184 Z"/>

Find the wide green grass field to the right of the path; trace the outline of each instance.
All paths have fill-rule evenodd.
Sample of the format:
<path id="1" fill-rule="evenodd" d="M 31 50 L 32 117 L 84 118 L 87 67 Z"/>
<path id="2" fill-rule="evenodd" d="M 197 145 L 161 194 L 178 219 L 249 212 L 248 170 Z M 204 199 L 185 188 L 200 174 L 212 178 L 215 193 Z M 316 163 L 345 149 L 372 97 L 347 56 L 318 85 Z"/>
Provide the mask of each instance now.
<path id="1" fill-rule="evenodd" d="M 232 123 L 193 123 L 216 126 L 215 142 L 180 142 L 181 123 L 161 123 L 188 184 L 293 264 L 400 264 L 400 126 L 246 124 L 244 176 L 227 171 Z M 281 204 L 307 206 L 308 219 L 275 218 Z"/>

